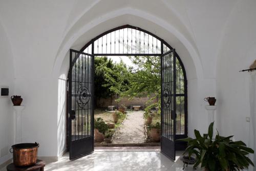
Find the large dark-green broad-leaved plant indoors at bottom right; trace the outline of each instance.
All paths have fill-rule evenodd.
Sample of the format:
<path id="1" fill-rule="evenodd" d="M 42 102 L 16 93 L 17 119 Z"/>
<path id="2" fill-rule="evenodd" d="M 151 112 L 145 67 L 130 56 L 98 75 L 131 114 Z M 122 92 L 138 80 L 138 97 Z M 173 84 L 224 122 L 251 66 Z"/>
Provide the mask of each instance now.
<path id="1" fill-rule="evenodd" d="M 242 170 L 248 168 L 253 163 L 247 157 L 249 153 L 254 153 L 253 149 L 246 147 L 243 141 L 232 141 L 229 137 L 222 137 L 217 131 L 215 139 L 212 138 L 214 122 L 209 125 L 208 134 L 201 134 L 195 130 L 196 138 L 185 138 L 180 141 L 188 143 L 185 153 L 190 158 L 196 157 L 194 168 L 199 164 L 205 170 Z M 184 153 L 184 154 L 185 154 Z"/>

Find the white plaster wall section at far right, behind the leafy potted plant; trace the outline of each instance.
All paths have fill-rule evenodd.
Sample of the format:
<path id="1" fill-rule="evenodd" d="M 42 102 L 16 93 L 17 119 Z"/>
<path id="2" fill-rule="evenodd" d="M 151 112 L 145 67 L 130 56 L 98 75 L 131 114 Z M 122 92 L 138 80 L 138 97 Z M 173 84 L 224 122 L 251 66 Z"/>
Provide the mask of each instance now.
<path id="1" fill-rule="evenodd" d="M 256 1 L 239 1 L 226 23 L 217 66 L 220 133 L 249 144 L 251 86 L 248 69 L 256 59 Z"/>

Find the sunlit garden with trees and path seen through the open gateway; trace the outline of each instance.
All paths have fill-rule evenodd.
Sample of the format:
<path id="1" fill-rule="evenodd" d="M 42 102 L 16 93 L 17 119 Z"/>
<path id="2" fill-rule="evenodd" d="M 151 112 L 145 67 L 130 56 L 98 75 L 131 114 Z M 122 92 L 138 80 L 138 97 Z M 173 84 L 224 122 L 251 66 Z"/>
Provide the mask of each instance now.
<path id="1" fill-rule="evenodd" d="M 148 142 L 160 145 L 160 81 L 158 56 L 95 57 L 95 129 L 108 125 L 101 131 L 103 136 L 95 130 L 97 146 Z M 152 127 L 157 130 L 154 140 Z"/>

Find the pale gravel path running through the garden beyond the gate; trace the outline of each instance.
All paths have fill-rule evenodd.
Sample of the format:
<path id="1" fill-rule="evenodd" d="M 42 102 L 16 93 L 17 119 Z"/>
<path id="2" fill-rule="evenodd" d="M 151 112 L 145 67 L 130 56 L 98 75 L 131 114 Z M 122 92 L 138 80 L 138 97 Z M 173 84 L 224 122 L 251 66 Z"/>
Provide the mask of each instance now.
<path id="1" fill-rule="evenodd" d="M 126 120 L 116 133 L 112 143 L 144 143 L 144 132 L 143 111 L 128 112 Z"/>

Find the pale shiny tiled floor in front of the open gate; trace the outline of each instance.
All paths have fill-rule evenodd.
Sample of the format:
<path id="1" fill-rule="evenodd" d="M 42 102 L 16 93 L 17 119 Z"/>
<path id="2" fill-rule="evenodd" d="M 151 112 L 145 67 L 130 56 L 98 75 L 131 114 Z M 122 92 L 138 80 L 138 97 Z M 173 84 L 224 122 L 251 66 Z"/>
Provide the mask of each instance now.
<path id="1" fill-rule="evenodd" d="M 158 151 L 102 151 L 96 150 L 91 155 L 70 161 L 68 154 L 59 161 L 46 165 L 45 170 L 88 170 L 88 171 L 119 171 L 119 170 L 174 170 L 181 171 L 183 163 L 177 152 L 176 162 L 171 161 Z M 193 170 L 189 165 L 185 170 Z"/>

